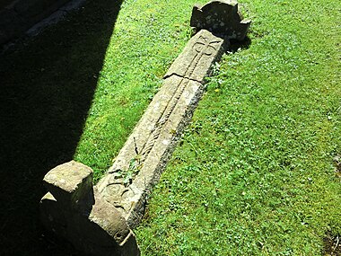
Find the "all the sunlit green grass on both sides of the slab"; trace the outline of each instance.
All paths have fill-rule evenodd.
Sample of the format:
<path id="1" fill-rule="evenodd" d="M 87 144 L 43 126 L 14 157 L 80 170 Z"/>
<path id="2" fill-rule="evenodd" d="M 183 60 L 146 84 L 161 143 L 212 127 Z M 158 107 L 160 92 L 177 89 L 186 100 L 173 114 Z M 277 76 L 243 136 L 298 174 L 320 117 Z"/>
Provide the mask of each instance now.
<path id="1" fill-rule="evenodd" d="M 74 156 L 96 179 L 188 41 L 195 2 L 122 5 Z M 341 4 L 242 7 L 251 44 L 215 67 L 136 230 L 143 255 L 320 255 L 341 233 Z"/>

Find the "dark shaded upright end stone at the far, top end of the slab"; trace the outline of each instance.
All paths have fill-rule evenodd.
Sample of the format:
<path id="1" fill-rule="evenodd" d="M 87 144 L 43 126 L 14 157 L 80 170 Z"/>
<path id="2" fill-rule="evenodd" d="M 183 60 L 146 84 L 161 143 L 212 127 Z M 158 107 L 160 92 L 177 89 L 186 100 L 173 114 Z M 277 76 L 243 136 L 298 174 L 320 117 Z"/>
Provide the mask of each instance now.
<path id="1" fill-rule="evenodd" d="M 197 31 L 205 29 L 228 39 L 244 40 L 250 20 L 243 20 L 235 0 L 214 0 L 193 7 L 190 25 Z"/>

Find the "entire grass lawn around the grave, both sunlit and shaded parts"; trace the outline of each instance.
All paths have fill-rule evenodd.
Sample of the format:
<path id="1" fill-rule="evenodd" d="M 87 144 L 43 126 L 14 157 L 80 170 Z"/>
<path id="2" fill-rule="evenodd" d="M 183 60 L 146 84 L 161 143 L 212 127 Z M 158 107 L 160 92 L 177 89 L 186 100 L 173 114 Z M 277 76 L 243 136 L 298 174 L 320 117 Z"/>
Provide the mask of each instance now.
<path id="1" fill-rule="evenodd" d="M 87 1 L 0 57 L 0 254 L 71 255 L 40 236 L 42 177 L 74 158 L 101 178 L 197 2 Z M 341 255 L 341 2 L 240 4 L 249 47 L 214 67 L 138 243 L 145 256 Z"/>

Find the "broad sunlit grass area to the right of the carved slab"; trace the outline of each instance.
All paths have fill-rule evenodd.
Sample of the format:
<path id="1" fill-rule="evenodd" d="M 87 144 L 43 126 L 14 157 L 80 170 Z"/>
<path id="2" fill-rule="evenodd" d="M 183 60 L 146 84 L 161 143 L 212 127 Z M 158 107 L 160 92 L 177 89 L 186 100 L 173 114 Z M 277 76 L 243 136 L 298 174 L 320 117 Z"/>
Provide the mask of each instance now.
<path id="1" fill-rule="evenodd" d="M 243 4 L 251 45 L 216 66 L 136 231 L 143 255 L 321 255 L 341 234 L 341 4 Z"/>

